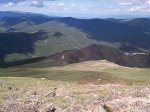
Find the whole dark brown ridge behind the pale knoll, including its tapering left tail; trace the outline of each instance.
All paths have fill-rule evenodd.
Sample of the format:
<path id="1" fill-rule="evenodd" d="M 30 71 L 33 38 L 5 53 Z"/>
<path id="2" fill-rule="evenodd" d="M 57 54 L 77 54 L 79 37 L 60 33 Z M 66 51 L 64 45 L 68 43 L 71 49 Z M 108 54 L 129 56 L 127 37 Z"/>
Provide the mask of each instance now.
<path id="1" fill-rule="evenodd" d="M 78 50 L 64 51 L 49 57 L 29 59 L 11 64 L 23 65 L 24 67 L 51 67 L 91 60 L 107 60 L 126 67 L 150 68 L 150 54 L 127 54 L 112 47 L 96 44 Z"/>

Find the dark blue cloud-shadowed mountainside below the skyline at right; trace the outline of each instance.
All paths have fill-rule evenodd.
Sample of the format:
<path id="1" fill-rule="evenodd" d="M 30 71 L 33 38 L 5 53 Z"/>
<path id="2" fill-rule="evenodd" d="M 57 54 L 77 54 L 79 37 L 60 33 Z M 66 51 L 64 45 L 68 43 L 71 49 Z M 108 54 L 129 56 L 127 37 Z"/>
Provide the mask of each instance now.
<path id="1" fill-rule="evenodd" d="M 75 19 L 60 18 L 59 22 L 63 22 L 69 26 L 82 30 L 91 35 L 91 38 L 103 40 L 107 42 L 141 42 L 150 41 L 149 34 L 144 33 L 145 29 L 119 22 L 112 22 L 103 19 Z"/>

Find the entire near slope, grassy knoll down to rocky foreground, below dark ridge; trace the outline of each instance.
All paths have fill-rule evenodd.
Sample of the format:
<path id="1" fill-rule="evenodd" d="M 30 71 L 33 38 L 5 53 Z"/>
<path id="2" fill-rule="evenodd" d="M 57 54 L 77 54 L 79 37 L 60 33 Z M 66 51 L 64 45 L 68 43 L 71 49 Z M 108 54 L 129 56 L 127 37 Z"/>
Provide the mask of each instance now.
<path id="1" fill-rule="evenodd" d="M 0 112 L 150 112 L 150 69 L 88 61 L 0 76 Z"/>

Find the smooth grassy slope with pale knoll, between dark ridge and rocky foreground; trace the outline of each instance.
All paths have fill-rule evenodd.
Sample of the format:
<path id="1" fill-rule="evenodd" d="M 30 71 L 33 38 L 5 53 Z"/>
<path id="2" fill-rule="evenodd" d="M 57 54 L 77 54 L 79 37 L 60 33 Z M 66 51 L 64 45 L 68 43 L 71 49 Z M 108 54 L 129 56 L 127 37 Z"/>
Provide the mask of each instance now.
<path id="1" fill-rule="evenodd" d="M 127 68 L 107 61 L 89 61 L 52 68 L 8 68 L 2 69 L 0 76 L 46 78 L 80 83 L 150 83 L 150 69 Z"/>

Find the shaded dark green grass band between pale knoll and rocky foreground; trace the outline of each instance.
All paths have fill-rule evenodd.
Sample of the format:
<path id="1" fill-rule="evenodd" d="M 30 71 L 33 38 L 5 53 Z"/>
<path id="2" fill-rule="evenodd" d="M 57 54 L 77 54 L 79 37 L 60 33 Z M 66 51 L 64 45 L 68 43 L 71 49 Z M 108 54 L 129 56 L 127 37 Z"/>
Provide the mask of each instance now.
<path id="1" fill-rule="evenodd" d="M 111 80 L 110 74 L 91 71 L 63 71 L 63 70 L 40 70 L 29 68 L 11 68 L 3 69 L 0 72 L 1 77 L 32 77 L 46 78 L 49 80 L 59 81 L 80 81 L 80 80 L 95 80 L 97 78 Z"/>

